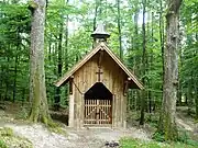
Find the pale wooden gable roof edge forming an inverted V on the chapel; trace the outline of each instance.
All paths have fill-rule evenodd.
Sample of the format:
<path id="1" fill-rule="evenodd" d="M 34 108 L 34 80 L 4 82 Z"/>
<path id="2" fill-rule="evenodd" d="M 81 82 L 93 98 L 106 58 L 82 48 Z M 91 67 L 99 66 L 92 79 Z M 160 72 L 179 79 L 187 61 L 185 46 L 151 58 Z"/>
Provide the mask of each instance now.
<path id="1" fill-rule="evenodd" d="M 117 65 L 128 75 L 129 79 L 132 80 L 139 89 L 144 87 L 138 80 L 138 78 L 122 64 L 122 61 L 109 49 L 109 47 L 101 42 L 96 48 L 94 48 L 85 58 L 78 61 L 69 71 L 67 71 L 58 81 L 55 82 L 56 87 L 61 87 L 66 82 L 81 66 L 84 66 L 92 56 L 95 56 L 99 50 L 106 50 L 108 55 L 117 62 Z"/>

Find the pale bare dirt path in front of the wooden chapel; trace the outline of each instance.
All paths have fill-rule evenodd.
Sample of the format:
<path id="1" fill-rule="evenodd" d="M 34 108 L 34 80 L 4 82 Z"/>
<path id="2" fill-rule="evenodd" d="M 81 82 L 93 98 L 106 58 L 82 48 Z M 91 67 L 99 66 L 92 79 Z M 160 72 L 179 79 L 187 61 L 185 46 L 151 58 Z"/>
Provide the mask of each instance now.
<path id="1" fill-rule="evenodd" d="M 130 129 L 110 129 L 110 128 L 90 128 L 73 129 L 64 128 L 67 136 L 48 132 L 40 124 L 16 125 L 6 124 L 19 136 L 23 136 L 33 143 L 35 148 L 102 148 L 106 141 L 118 141 L 122 137 L 140 138 L 150 140 L 150 136 L 136 128 Z"/>

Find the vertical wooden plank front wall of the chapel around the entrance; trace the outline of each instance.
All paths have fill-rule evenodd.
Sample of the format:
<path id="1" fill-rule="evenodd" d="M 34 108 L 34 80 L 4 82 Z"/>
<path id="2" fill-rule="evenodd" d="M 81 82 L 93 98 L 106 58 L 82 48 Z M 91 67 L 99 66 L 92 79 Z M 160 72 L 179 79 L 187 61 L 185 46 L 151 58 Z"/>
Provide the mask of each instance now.
<path id="1" fill-rule="evenodd" d="M 84 126 L 84 94 L 98 80 L 98 76 L 96 75 L 98 71 L 98 57 L 99 54 L 95 55 L 74 75 L 74 127 Z M 112 127 L 124 127 L 127 119 L 127 98 L 123 95 L 123 87 L 127 75 L 107 53 L 103 54 L 101 70 L 103 72 L 101 75 L 101 81 L 113 94 Z"/>

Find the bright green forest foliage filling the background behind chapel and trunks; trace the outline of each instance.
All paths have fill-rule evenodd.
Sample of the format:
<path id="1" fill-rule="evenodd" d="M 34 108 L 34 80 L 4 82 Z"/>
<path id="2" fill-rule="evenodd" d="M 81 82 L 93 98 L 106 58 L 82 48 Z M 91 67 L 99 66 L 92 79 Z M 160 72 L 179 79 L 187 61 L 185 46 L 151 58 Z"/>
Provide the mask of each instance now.
<path id="1" fill-rule="evenodd" d="M 29 49 L 31 12 L 28 3 L 20 1 L 0 2 L 0 100 L 28 101 L 29 100 Z M 161 8 L 162 2 L 162 8 Z M 36 3 L 31 4 L 36 8 Z M 97 8 L 97 13 L 96 13 Z M 61 105 L 68 105 L 67 88 L 62 87 L 61 94 L 56 94 L 54 82 L 58 76 L 58 43 L 62 41 L 62 75 L 80 60 L 91 48 L 94 19 L 107 25 L 111 37 L 109 46 L 119 55 L 119 36 L 122 37 L 123 62 L 140 78 L 145 79 L 146 112 L 151 103 L 152 111 L 158 112 L 162 104 L 163 61 L 161 33 L 165 26 L 165 1 L 153 0 L 146 3 L 146 72 L 142 75 L 142 1 L 124 0 L 120 3 L 121 15 L 118 18 L 116 1 L 48 1 L 45 24 L 45 72 L 46 89 L 50 105 L 54 98 L 61 95 Z M 185 0 L 180 9 L 180 53 L 179 53 L 179 84 L 182 96 L 188 92 L 196 96 L 198 83 L 198 53 L 197 53 L 197 1 Z M 96 13 L 96 14 L 95 14 Z M 160 20 L 162 16 L 163 20 Z M 118 31 L 118 19 L 121 22 L 121 34 Z M 62 30 L 63 26 L 63 30 Z M 68 34 L 67 34 L 68 33 Z M 67 35 L 66 35 L 67 34 Z M 165 37 L 165 36 L 164 36 Z M 164 38 L 162 38 L 164 39 Z M 165 42 L 165 39 L 164 39 Z M 15 86 L 14 86 L 15 83 Z M 191 84 L 191 91 L 188 86 Z M 15 93 L 15 98 L 14 98 Z M 129 95 L 131 110 L 139 110 L 140 92 L 133 91 Z M 151 100 L 151 102 L 150 102 Z M 195 105 L 195 101 L 193 101 Z M 28 111 L 22 109 L 18 118 L 26 118 Z M 157 126 L 155 116 L 146 122 L 153 127 Z M 136 115 L 134 117 L 139 119 Z M 161 135 L 156 134 L 161 140 Z"/>

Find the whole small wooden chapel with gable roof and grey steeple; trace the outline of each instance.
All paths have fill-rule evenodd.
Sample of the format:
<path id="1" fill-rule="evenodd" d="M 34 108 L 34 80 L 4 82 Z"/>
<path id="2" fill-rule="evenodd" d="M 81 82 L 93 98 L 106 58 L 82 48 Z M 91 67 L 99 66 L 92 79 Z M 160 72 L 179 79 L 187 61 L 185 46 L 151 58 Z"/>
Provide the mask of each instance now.
<path id="1" fill-rule="evenodd" d="M 127 127 L 128 89 L 143 89 L 107 45 L 102 24 L 91 34 L 94 49 L 67 71 L 56 87 L 69 83 L 70 127 Z"/>

